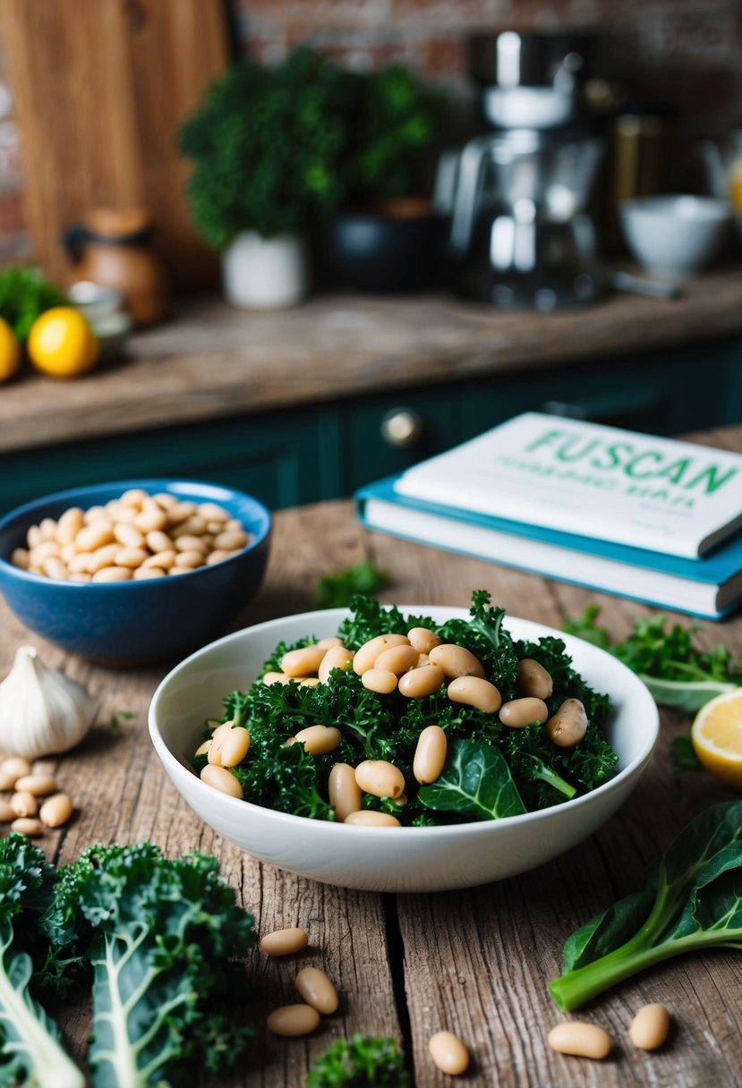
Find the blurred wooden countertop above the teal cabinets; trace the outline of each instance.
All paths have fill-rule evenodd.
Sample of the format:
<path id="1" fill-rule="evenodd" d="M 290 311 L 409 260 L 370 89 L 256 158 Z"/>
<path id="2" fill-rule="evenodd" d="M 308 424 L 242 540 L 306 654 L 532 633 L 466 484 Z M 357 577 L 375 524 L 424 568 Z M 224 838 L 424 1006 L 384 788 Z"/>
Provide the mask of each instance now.
<path id="1" fill-rule="evenodd" d="M 8 2 L 8 0 L 0 0 Z M 279 312 L 183 301 L 127 357 L 74 382 L 26 372 L 2 388 L 0 452 L 424 387 L 561 369 L 742 332 L 742 270 L 667 301 L 615 295 L 573 310 L 493 310 L 449 297 L 324 295 Z M 73 422 L 74 421 L 74 422 Z"/>

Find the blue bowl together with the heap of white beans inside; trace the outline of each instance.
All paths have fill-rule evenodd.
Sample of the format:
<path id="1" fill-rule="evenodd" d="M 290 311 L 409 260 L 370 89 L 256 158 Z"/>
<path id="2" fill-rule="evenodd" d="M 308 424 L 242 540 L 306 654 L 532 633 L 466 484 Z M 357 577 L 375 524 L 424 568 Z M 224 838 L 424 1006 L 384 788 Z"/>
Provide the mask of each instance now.
<path id="1" fill-rule="evenodd" d="M 212 641 L 265 569 L 271 516 L 203 481 L 121 480 L 0 519 L 0 592 L 17 618 L 106 665 L 172 660 Z"/>

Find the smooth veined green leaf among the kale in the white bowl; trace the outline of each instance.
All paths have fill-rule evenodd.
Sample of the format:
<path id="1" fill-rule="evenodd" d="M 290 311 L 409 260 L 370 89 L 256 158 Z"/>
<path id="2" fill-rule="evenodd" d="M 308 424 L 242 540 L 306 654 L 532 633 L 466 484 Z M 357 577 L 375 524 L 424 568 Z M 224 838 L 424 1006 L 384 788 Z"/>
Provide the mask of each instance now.
<path id="1" fill-rule="evenodd" d="M 418 791 L 428 808 L 502 819 L 525 812 L 505 757 L 489 744 L 454 741 L 443 774 Z"/>

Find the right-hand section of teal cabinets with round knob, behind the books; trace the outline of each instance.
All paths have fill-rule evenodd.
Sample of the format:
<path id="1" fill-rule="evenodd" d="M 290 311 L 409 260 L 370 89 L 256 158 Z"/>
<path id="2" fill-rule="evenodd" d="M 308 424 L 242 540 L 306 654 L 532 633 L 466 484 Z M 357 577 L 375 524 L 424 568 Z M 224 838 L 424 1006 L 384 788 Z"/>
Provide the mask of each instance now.
<path id="1" fill-rule="evenodd" d="M 519 412 L 548 411 L 677 435 L 742 420 L 739 393 L 739 339 L 387 393 L 347 406 L 341 424 L 344 493 L 399 472 Z"/>

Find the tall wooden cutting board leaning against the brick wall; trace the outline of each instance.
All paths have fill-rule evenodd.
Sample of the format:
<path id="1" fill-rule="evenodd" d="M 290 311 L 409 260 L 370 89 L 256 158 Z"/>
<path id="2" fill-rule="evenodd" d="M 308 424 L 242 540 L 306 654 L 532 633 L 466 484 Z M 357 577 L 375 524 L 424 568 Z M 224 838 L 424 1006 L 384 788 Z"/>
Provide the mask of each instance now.
<path id="1" fill-rule="evenodd" d="M 145 206 L 175 286 L 214 284 L 175 131 L 230 63 L 224 0 L 0 0 L 0 27 L 46 273 L 69 279 L 61 234 L 90 208 Z"/>

